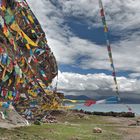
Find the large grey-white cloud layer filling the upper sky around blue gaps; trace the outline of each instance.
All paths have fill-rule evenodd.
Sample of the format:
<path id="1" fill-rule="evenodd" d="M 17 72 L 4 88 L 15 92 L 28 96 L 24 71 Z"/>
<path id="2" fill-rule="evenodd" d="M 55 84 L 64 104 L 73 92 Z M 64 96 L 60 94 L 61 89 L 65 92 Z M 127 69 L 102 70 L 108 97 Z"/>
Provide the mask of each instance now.
<path id="1" fill-rule="evenodd" d="M 79 67 L 110 70 L 105 46 L 81 39 L 65 24 L 66 17 L 76 17 L 91 27 L 101 26 L 98 0 L 29 0 L 28 3 L 41 22 L 59 64 L 76 64 L 77 56 L 81 55 L 88 57 L 79 62 Z M 103 3 L 111 32 L 122 34 L 122 38 L 112 44 L 117 70 L 140 72 L 139 35 L 134 31 L 128 33 L 140 26 L 140 1 L 103 0 Z"/>

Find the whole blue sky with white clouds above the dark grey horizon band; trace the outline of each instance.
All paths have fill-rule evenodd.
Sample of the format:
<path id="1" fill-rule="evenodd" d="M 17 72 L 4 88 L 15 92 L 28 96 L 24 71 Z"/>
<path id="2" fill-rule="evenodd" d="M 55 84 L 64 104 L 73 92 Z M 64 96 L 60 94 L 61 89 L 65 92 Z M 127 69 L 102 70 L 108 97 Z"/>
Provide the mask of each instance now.
<path id="1" fill-rule="evenodd" d="M 114 91 L 98 0 L 29 0 L 59 66 L 60 89 Z M 140 1 L 103 0 L 120 92 L 140 92 Z M 113 92 L 112 92 L 113 93 Z"/>

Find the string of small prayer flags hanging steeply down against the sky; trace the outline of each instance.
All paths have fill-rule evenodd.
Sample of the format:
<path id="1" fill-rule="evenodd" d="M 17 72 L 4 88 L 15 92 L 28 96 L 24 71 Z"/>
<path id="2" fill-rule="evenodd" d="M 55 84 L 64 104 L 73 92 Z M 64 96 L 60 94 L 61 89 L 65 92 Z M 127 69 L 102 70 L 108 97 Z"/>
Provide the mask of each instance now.
<path id="1" fill-rule="evenodd" d="M 114 83 L 115 83 L 115 90 L 116 90 L 117 95 L 119 96 L 118 83 L 117 83 L 117 78 L 116 78 L 116 70 L 115 70 L 115 67 L 114 67 L 114 64 L 113 64 L 111 45 L 110 45 L 110 41 L 109 41 L 109 29 L 108 29 L 107 22 L 106 22 L 105 11 L 104 11 L 102 0 L 99 0 L 99 7 L 100 7 L 100 15 L 101 15 L 101 18 L 102 18 L 102 23 L 103 23 L 103 26 L 104 26 L 104 34 L 105 34 L 105 38 L 106 38 L 109 60 L 110 60 L 110 63 L 111 63 L 111 68 L 113 70 L 112 71 L 112 76 L 113 76 Z"/>

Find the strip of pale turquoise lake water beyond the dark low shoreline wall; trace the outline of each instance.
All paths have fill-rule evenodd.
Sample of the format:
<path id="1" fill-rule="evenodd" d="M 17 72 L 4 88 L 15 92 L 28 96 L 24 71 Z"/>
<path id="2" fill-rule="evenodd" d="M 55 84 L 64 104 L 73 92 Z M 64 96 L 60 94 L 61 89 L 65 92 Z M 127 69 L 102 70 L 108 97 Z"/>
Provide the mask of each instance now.
<path id="1" fill-rule="evenodd" d="M 83 109 L 85 111 L 99 111 L 99 112 L 129 112 L 128 107 L 132 109 L 132 112 L 136 115 L 140 115 L 140 104 L 95 104 L 90 107 L 86 107 L 83 104 L 77 104 L 74 109 Z"/>

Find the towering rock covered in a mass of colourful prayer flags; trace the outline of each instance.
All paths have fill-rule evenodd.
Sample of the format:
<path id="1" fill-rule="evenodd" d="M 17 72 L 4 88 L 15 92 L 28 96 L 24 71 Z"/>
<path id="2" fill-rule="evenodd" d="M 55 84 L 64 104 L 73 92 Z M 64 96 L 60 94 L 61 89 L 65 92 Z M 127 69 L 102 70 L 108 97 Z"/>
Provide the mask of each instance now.
<path id="1" fill-rule="evenodd" d="M 0 3 L 0 106 L 12 104 L 28 119 L 58 108 L 48 90 L 57 75 L 56 59 L 45 33 L 25 0 Z"/>

